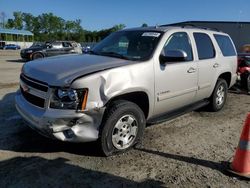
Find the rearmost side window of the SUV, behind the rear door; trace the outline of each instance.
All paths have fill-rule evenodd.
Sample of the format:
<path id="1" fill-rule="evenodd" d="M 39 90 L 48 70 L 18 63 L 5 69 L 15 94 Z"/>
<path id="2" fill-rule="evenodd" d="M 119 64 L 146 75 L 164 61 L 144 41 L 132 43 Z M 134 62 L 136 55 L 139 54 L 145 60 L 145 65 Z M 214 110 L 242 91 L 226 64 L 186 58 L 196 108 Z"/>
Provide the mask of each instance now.
<path id="1" fill-rule="evenodd" d="M 223 56 L 235 56 L 234 46 L 228 36 L 214 35 Z"/>

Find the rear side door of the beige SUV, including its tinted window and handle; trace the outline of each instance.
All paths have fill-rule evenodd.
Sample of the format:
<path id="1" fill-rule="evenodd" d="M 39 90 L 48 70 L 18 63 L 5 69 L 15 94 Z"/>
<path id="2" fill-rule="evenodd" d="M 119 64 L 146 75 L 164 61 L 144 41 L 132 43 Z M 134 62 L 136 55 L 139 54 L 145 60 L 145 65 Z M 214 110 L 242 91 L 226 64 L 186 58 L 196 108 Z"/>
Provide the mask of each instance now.
<path id="1" fill-rule="evenodd" d="M 216 60 L 215 47 L 211 37 L 201 32 L 194 32 L 193 37 L 197 49 L 198 92 L 195 100 L 198 101 L 209 97 L 213 92 L 220 64 Z"/>

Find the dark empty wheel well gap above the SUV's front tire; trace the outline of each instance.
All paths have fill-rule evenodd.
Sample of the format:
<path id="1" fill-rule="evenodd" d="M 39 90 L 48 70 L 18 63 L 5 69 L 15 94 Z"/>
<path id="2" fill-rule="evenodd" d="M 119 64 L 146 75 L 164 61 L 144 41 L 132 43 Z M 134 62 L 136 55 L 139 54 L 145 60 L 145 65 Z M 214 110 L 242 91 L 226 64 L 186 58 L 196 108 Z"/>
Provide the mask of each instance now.
<path id="1" fill-rule="evenodd" d="M 126 100 L 137 104 L 144 113 L 145 119 L 148 117 L 149 113 L 149 99 L 145 92 L 132 92 L 116 96 L 108 101 L 105 106 L 109 106 L 112 102 L 117 100 Z"/>

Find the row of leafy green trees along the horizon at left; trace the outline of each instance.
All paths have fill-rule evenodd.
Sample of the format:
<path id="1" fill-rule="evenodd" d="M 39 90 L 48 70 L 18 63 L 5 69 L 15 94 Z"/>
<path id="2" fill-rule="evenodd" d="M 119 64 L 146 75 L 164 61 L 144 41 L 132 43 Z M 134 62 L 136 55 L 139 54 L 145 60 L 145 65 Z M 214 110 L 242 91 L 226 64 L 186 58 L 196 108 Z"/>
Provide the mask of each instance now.
<path id="1" fill-rule="evenodd" d="M 35 41 L 74 40 L 77 42 L 98 42 L 110 33 L 121 30 L 124 24 L 117 24 L 108 29 L 88 31 L 81 26 L 81 20 L 65 20 L 53 13 L 34 16 L 30 13 L 13 12 L 14 18 L 4 19 L 2 27 L 8 29 L 25 29 L 34 34 Z"/>

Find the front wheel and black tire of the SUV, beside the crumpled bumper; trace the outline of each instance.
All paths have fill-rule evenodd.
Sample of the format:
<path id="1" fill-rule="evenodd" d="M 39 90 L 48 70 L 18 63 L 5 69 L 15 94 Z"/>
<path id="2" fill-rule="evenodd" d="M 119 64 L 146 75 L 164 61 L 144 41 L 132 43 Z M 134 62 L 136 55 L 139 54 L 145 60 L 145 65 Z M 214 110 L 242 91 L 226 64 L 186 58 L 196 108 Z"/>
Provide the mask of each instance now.
<path id="1" fill-rule="evenodd" d="M 107 107 L 100 130 L 100 144 L 104 155 L 123 153 L 140 143 L 145 125 L 144 113 L 135 103 L 125 100 L 113 102 Z"/>

